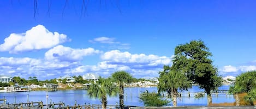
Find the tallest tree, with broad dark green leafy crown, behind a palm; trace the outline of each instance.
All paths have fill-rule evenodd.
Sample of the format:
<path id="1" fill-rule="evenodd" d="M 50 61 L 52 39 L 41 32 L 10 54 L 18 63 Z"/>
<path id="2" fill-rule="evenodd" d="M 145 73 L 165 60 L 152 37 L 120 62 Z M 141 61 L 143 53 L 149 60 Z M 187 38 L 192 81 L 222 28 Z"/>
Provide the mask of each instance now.
<path id="1" fill-rule="evenodd" d="M 175 56 L 171 67 L 175 72 L 183 72 L 207 94 L 207 103 L 212 102 L 211 90 L 221 86 L 222 78 L 218 69 L 212 65 L 209 48 L 201 40 L 180 44 L 175 48 Z"/>

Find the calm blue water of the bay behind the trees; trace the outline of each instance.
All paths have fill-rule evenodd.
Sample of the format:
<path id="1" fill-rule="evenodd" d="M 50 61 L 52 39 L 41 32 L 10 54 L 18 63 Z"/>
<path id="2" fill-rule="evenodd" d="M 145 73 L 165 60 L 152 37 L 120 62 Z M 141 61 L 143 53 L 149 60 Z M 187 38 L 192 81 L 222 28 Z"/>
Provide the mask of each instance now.
<path id="1" fill-rule="evenodd" d="M 229 86 L 221 86 L 219 89 L 228 89 Z M 139 101 L 139 94 L 148 90 L 149 92 L 157 92 L 157 87 L 130 87 L 124 88 L 124 104 L 125 105 L 133 105 L 133 106 L 144 106 L 142 102 Z M 189 89 L 190 98 L 188 94 L 182 94 L 182 98 L 177 99 L 178 106 L 206 106 L 207 98 L 206 95 L 204 98 L 196 99 L 194 98 L 193 92 L 204 91 L 203 89 L 199 89 L 198 86 L 193 86 L 192 89 Z M 184 91 L 188 92 L 188 91 Z M 99 99 L 91 99 L 87 95 L 86 90 L 68 90 L 68 91 L 56 91 L 56 92 L 48 92 L 49 99 L 52 102 L 63 101 L 66 105 L 74 105 L 75 100 L 77 104 L 84 105 L 88 104 L 101 104 Z M 46 104 L 46 91 L 31 91 L 31 92 L 9 92 L 9 93 L 0 93 L 0 99 L 6 98 L 9 104 L 19 102 L 27 102 L 28 101 L 43 101 Z M 169 99 L 169 101 L 171 101 Z M 219 94 L 218 97 L 216 95 L 212 95 L 213 103 L 221 103 L 221 102 L 234 102 L 235 99 L 233 95 Z M 108 97 L 108 105 L 116 105 L 116 102 L 119 102 L 118 97 Z M 2 103 L 2 102 L 0 102 Z M 172 105 L 171 102 L 169 105 Z"/>

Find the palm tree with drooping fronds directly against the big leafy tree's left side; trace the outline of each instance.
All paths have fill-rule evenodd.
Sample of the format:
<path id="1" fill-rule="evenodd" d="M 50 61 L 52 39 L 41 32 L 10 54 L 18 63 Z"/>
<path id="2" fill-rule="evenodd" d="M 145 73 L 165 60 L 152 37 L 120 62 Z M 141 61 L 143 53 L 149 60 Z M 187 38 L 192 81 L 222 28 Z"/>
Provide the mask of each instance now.
<path id="1" fill-rule="evenodd" d="M 159 74 L 158 92 L 167 92 L 172 104 L 177 106 L 178 89 L 187 90 L 192 87 L 192 81 L 188 80 L 183 72 L 171 70 L 169 66 L 164 66 L 164 70 Z"/>

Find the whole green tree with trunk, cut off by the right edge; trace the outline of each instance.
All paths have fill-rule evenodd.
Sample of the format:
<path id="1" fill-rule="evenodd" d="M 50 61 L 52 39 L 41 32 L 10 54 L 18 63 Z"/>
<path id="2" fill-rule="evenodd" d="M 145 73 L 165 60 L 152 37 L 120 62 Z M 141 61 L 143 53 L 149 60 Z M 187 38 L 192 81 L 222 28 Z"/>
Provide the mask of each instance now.
<path id="1" fill-rule="evenodd" d="M 248 93 L 245 100 L 249 105 L 253 105 L 256 100 L 256 70 L 240 74 L 236 77 L 234 86 L 229 88 L 229 92 L 235 94 L 236 105 L 240 105 L 239 93 Z"/>

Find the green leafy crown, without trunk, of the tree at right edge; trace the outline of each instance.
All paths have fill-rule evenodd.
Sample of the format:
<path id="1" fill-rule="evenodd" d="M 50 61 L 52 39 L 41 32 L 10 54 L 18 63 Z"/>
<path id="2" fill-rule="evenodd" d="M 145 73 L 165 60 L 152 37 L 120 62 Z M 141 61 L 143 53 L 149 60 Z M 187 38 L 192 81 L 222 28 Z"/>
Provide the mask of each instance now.
<path id="1" fill-rule="evenodd" d="M 256 70 L 240 74 L 235 85 L 229 88 L 229 93 L 247 93 L 256 87 Z"/>

